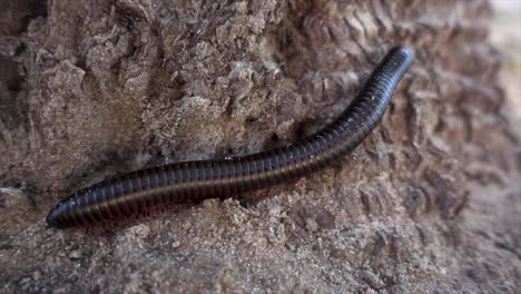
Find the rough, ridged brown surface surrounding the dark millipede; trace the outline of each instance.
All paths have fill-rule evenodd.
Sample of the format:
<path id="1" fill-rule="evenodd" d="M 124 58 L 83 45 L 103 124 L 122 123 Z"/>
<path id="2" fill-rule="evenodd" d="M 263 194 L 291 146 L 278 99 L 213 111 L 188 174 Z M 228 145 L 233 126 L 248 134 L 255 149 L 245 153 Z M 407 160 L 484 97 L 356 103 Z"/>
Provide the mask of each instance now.
<path id="1" fill-rule="evenodd" d="M 514 293 L 521 148 L 485 1 L 3 1 L 0 292 Z M 415 51 L 350 156 L 240 199 L 69 231 L 106 177 L 284 146 Z"/>

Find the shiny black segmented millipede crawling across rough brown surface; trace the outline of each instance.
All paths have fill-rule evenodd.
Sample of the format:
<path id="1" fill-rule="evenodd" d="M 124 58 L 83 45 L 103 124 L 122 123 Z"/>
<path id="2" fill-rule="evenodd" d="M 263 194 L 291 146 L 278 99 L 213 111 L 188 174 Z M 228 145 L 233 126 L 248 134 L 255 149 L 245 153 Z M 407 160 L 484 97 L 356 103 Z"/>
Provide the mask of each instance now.
<path id="1" fill-rule="evenodd" d="M 367 137 L 412 59 L 407 48 L 390 50 L 347 109 L 296 144 L 242 157 L 150 167 L 106 179 L 59 202 L 47 223 L 65 228 L 106 222 L 174 203 L 238 196 L 309 175 Z"/>

